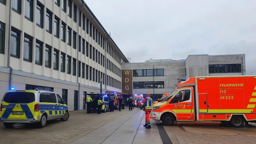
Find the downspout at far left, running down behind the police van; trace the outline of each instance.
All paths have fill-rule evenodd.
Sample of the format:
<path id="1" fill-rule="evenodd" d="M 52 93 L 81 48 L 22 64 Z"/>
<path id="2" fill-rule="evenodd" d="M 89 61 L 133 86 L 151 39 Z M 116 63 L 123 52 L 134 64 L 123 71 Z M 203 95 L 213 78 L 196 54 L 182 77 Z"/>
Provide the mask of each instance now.
<path id="1" fill-rule="evenodd" d="M 13 77 L 13 69 L 10 66 L 11 30 L 12 30 L 12 0 L 10 0 L 9 43 L 8 43 L 8 60 L 7 60 L 7 66 L 8 66 L 8 68 L 10 68 L 10 85 L 9 85 L 9 90 L 11 90 L 11 88 L 12 88 L 12 77 Z"/>

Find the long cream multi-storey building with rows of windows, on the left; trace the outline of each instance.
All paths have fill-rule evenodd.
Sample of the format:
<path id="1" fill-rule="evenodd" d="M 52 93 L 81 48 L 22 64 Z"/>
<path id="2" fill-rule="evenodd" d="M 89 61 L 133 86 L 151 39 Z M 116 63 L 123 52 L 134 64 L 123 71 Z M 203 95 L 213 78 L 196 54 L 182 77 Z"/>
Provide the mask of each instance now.
<path id="1" fill-rule="evenodd" d="M 121 92 L 128 60 L 83 0 L 12 0 L 11 11 L 0 0 L 0 13 L 0 99 L 10 89 L 9 34 L 16 90 L 54 90 L 70 110 L 84 109 L 101 80 L 103 93 Z"/>

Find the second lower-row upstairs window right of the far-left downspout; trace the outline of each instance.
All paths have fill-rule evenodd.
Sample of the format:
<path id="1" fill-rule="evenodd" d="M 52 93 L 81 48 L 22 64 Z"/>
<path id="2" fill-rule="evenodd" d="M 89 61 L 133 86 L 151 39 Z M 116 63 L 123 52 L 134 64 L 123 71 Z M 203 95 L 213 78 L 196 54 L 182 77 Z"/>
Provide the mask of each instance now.
<path id="1" fill-rule="evenodd" d="M 23 60 L 32 62 L 32 46 L 33 39 L 30 36 L 24 36 L 24 51 L 23 51 Z"/>

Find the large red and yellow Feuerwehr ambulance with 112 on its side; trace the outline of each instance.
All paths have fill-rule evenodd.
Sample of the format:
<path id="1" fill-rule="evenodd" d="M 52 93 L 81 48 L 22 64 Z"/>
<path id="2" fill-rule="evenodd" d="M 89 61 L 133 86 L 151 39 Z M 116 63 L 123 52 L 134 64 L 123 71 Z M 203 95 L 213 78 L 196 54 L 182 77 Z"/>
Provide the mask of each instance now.
<path id="1" fill-rule="evenodd" d="M 153 105 L 150 118 L 174 121 L 220 121 L 233 127 L 256 123 L 256 76 L 182 78 L 176 89 Z"/>

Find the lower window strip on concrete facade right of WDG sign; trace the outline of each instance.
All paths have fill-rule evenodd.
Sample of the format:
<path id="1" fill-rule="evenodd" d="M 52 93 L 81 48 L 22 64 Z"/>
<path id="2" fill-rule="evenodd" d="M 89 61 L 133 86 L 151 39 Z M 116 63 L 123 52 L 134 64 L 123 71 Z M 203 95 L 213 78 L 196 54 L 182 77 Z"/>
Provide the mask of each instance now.
<path id="1" fill-rule="evenodd" d="M 164 82 L 133 82 L 133 88 L 164 88 Z"/>

